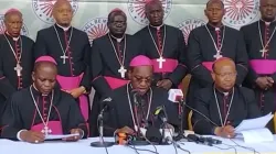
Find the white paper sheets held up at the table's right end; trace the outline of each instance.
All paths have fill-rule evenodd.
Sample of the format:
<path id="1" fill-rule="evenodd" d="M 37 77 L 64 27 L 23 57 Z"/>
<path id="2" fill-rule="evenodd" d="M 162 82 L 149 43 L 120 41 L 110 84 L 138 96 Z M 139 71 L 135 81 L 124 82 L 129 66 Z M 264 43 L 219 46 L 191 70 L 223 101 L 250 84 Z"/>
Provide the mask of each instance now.
<path id="1" fill-rule="evenodd" d="M 235 128 L 235 133 L 242 135 L 245 143 L 273 142 L 274 136 L 272 132 L 265 128 L 273 117 L 269 113 L 261 118 L 243 120 Z"/>

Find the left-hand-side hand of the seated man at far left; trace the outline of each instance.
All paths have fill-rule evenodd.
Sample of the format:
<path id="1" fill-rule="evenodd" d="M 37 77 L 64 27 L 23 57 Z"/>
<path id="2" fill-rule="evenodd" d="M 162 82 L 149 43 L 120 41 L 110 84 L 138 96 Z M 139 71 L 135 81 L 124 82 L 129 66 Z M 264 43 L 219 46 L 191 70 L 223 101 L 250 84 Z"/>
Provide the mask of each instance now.
<path id="1" fill-rule="evenodd" d="M 34 131 L 22 131 L 19 136 L 22 141 L 29 143 L 41 143 L 45 140 L 45 135 L 42 132 Z"/>

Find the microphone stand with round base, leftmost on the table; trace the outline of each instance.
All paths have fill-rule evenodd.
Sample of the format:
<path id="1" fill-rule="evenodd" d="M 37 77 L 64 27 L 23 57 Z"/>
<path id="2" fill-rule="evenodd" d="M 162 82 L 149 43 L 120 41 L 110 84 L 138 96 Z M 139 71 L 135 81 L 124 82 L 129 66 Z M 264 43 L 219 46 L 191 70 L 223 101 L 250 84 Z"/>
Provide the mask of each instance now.
<path id="1" fill-rule="evenodd" d="M 107 110 L 107 106 L 104 107 L 104 109 L 100 111 L 98 114 L 98 132 L 99 132 L 99 141 L 97 142 L 92 142 L 91 146 L 93 147 L 109 147 L 113 146 L 115 143 L 114 142 L 106 142 L 104 141 L 104 112 Z"/>

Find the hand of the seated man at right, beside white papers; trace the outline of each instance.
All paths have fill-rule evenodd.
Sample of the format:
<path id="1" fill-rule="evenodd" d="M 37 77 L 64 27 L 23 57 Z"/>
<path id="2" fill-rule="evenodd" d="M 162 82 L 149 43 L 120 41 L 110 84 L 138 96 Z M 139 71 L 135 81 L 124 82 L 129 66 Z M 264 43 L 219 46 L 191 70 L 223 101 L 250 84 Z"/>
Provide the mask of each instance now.
<path id="1" fill-rule="evenodd" d="M 214 130 L 214 134 L 221 138 L 232 139 L 235 136 L 235 129 L 232 125 L 226 125 L 224 128 L 217 127 Z"/>

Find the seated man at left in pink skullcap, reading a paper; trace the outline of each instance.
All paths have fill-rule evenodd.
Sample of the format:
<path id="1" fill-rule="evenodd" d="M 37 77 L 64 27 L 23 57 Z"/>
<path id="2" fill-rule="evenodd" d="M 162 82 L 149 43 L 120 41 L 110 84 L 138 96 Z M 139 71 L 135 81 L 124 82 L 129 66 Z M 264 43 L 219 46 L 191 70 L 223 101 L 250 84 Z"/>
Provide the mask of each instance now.
<path id="1" fill-rule="evenodd" d="M 75 99 L 54 88 L 56 65 L 50 56 L 35 61 L 33 85 L 17 91 L 8 103 L 2 138 L 41 143 L 49 134 L 77 134 L 64 139 L 66 141 L 87 136 L 85 120 Z"/>

